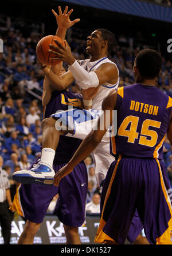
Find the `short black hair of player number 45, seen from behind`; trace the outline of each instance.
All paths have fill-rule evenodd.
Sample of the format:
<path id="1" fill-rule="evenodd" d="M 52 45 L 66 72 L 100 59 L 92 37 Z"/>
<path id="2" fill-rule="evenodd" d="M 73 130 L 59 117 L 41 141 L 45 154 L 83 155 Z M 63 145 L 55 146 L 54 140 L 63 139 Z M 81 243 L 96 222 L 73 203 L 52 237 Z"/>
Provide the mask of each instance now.
<path id="1" fill-rule="evenodd" d="M 158 51 L 147 48 L 138 53 L 135 64 L 143 78 L 154 79 L 161 70 L 162 57 Z"/>

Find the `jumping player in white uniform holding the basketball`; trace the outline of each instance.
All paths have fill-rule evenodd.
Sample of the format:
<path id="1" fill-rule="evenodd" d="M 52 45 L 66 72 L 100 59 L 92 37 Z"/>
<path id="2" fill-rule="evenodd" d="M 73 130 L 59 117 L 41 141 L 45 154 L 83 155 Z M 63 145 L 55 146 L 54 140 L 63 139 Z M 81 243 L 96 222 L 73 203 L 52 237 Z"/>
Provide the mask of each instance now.
<path id="1" fill-rule="evenodd" d="M 88 129 L 85 129 L 85 118 L 89 116 L 90 119 L 93 119 L 95 122 L 101 112 L 101 102 L 103 97 L 107 94 L 108 91 L 118 87 L 119 70 L 115 63 L 111 62 L 110 59 L 107 58 L 113 46 L 114 34 L 110 31 L 107 31 L 106 29 L 97 29 L 96 31 L 92 32 L 91 36 L 88 36 L 87 52 L 91 55 L 91 59 L 81 61 L 79 65 L 79 63 L 73 57 L 71 49 L 67 44 L 66 48 L 60 46 L 62 47 L 60 48 L 60 51 L 63 51 L 63 57 L 61 58 L 61 61 L 64 59 L 65 62 L 68 63 L 70 70 L 63 76 L 58 77 L 48 67 L 44 68 L 46 77 L 48 77 L 51 85 L 53 85 L 54 88 L 56 88 L 56 86 L 67 88 L 69 84 L 76 80 L 77 84 L 82 89 L 88 89 L 90 87 L 95 88 L 95 90 L 97 89 L 96 96 L 93 97 L 93 100 L 87 100 L 84 102 L 84 105 L 87 105 L 89 108 L 92 107 L 94 111 L 83 111 L 83 118 L 80 123 L 74 121 L 73 118 L 72 121 L 69 119 L 67 125 L 69 127 L 75 126 L 75 129 L 71 129 L 71 131 L 69 131 L 67 134 L 68 136 L 80 138 L 83 140 L 83 138 L 85 138 L 85 136 L 92 129 L 92 125 L 89 127 L 87 126 Z M 56 52 L 56 54 L 58 55 L 58 52 Z M 54 171 L 52 168 L 52 163 L 59 136 L 59 132 L 55 128 L 55 123 L 56 119 L 59 118 L 59 115 L 59 113 L 54 114 L 53 118 L 44 119 L 42 122 L 42 157 L 40 161 L 40 167 L 31 171 L 19 171 L 16 175 L 13 176 L 15 180 L 19 179 L 21 183 L 32 183 L 37 182 L 39 179 L 46 184 L 53 183 Z M 73 117 L 75 115 L 75 110 L 69 110 L 69 115 Z M 61 118 L 65 119 L 64 116 Z M 70 123 L 70 121 L 72 123 Z M 49 136 L 50 130 L 52 131 L 51 136 Z M 61 131 L 61 133 L 63 133 L 63 131 Z M 101 141 L 101 144 L 97 146 L 93 152 L 96 178 L 99 184 L 104 179 L 108 167 L 110 167 L 110 163 L 115 159 L 114 156 L 110 155 L 109 147 L 110 138 L 105 136 Z M 104 156 L 103 159 L 102 155 Z M 41 171 L 43 170 L 42 168 L 44 171 Z"/>

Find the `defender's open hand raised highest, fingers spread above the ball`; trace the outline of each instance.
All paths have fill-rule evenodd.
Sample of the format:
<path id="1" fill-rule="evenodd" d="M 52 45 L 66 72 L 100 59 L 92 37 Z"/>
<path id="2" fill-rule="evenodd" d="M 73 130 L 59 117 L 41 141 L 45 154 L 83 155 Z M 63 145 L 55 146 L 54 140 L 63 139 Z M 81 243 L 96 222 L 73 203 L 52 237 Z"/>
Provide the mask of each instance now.
<path id="1" fill-rule="evenodd" d="M 68 12 L 68 6 L 65 7 L 64 13 L 61 12 L 61 6 L 58 6 L 59 14 L 52 10 L 52 13 L 56 17 L 58 28 L 68 29 L 72 27 L 76 22 L 80 21 L 80 18 L 76 18 L 76 20 L 73 21 L 70 20 L 70 15 L 72 12 L 73 9 L 69 10 Z"/>

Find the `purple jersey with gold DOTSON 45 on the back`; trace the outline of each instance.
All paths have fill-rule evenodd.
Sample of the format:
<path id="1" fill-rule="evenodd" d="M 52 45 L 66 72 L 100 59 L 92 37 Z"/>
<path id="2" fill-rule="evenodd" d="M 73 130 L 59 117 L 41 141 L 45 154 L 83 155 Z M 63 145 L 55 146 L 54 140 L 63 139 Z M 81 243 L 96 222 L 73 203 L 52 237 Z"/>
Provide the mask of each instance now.
<path id="1" fill-rule="evenodd" d="M 172 99 L 155 86 L 134 84 L 116 89 L 117 133 L 112 127 L 111 154 L 162 159 Z M 116 125 L 116 124 L 114 124 Z"/>

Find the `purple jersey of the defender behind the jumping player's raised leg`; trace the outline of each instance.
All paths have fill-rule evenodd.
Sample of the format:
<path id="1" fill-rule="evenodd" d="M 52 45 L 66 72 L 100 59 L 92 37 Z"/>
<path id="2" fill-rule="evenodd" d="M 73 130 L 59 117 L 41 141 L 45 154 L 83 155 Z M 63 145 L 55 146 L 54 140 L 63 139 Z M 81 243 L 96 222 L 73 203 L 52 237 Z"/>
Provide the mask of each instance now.
<path id="1" fill-rule="evenodd" d="M 47 104 L 44 111 L 44 118 L 48 118 L 50 115 L 54 114 L 57 110 L 68 110 L 69 106 L 73 108 L 81 108 L 82 96 L 77 95 L 70 91 L 52 93 L 52 97 Z M 54 161 L 64 161 L 68 162 L 71 160 L 76 149 L 79 147 L 81 140 L 77 138 L 70 138 L 65 136 L 60 136 L 60 140 L 56 149 L 56 155 Z"/>

